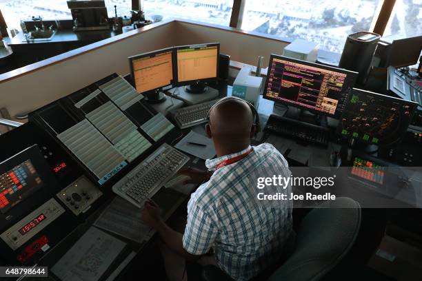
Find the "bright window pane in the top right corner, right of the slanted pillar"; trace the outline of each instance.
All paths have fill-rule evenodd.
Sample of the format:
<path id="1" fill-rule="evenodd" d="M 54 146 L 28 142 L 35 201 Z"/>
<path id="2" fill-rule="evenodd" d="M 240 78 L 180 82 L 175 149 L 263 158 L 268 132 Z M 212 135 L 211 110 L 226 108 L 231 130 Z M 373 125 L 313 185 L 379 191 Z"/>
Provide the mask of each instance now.
<path id="1" fill-rule="evenodd" d="M 422 0 L 396 0 L 384 36 L 403 39 L 422 35 Z"/>

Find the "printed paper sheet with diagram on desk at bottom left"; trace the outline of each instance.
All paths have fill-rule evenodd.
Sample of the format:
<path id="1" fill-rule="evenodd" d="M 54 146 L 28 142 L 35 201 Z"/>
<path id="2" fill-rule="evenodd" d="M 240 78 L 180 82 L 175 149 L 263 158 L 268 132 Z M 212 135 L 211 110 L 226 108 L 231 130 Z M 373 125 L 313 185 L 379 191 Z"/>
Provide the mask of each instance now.
<path id="1" fill-rule="evenodd" d="M 51 271 L 61 280 L 97 281 L 124 247 L 125 242 L 91 227 Z"/>

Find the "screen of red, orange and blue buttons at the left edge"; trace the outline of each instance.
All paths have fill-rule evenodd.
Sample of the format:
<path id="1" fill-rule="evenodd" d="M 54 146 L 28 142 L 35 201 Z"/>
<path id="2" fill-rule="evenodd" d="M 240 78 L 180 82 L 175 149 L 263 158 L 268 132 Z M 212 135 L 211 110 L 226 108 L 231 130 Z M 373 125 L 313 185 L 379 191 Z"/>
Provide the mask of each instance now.
<path id="1" fill-rule="evenodd" d="M 26 191 L 41 185 L 41 178 L 30 160 L 0 174 L 0 211 L 5 213 L 21 202 Z"/>

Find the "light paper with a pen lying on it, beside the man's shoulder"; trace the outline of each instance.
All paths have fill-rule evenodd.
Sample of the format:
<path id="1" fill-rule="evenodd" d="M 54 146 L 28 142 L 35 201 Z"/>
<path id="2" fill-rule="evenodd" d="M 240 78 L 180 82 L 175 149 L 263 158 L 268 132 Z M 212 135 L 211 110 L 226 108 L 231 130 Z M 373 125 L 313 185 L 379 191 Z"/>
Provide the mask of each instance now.
<path id="1" fill-rule="evenodd" d="M 211 159 L 216 154 L 212 139 L 193 131 L 190 131 L 174 147 L 203 160 Z"/>

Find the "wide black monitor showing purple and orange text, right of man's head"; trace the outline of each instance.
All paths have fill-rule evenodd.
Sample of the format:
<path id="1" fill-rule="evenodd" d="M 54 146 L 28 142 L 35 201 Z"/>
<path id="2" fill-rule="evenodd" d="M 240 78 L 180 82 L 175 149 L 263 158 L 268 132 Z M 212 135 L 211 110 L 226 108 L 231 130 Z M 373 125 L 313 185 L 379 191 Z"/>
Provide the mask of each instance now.
<path id="1" fill-rule="evenodd" d="M 263 98 L 339 118 L 358 73 L 271 54 Z"/>

